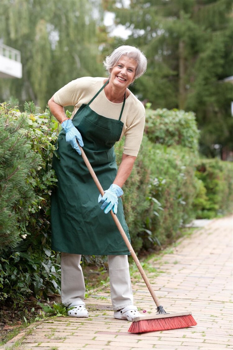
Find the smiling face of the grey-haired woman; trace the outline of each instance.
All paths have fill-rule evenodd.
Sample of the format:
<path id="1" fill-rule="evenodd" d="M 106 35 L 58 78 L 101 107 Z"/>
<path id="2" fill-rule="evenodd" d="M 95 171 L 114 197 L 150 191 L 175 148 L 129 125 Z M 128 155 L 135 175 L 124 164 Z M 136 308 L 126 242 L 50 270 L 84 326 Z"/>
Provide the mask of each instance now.
<path id="1" fill-rule="evenodd" d="M 137 69 L 137 62 L 130 57 L 121 56 L 111 69 L 110 83 L 121 89 L 126 89 L 133 81 Z"/>

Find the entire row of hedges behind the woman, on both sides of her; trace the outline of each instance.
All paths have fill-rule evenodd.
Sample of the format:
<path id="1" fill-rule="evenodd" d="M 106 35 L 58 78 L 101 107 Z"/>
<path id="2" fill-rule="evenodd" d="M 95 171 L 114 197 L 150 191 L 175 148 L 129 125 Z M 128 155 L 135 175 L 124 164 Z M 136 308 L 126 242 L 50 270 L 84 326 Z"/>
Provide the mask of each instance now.
<path id="1" fill-rule="evenodd" d="M 0 107 L 0 300 L 11 306 L 60 293 L 60 257 L 50 249 L 50 194 L 57 181 L 52 156 L 59 125 L 49 110 L 36 113 L 33 102 L 24 109 Z M 232 208 L 232 167 L 199 159 L 194 114 L 147 109 L 146 117 L 123 196 L 137 253 L 173 242 L 194 217 L 212 218 Z M 118 164 L 123 144 L 115 146 Z M 85 264 L 94 261 L 83 258 Z M 104 260 L 99 257 L 97 263 Z"/>

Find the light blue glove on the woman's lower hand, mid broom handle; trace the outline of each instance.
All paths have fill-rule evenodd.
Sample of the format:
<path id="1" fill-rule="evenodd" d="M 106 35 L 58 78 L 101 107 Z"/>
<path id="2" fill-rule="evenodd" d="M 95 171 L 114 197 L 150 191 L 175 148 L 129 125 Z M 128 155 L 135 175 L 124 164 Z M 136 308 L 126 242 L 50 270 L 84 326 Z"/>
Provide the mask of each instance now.
<path id="1" fill-rule="evenodd" d="M 107 214 L 111 209 L 114 214 L 117 213 L 118 198 L 124 194 L 121 187 L 113 183 L 107 191 L 104 191 L 103 197 L 99 195 L 98 203 L 103 203 L 101 209 Z"/>

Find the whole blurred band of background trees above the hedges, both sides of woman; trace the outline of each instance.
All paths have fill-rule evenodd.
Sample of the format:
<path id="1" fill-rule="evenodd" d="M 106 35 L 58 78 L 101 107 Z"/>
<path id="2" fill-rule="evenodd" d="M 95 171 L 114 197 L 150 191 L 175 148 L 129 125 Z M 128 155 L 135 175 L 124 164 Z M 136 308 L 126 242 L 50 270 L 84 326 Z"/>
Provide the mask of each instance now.
<path id="1" fill-rule="evenodd" d="M 130 29 L 112 37 L 104 13 Z M 21 51 L 22 79 L 5 79 L 0 100 L 46 103 L 82 76 L 104 76 L 102 60 L 119 44 L 148 58 L 146 74 L 131 87 L 152 109 L 193 111 L 200 151 L 225 159 L 233 150 L 231 0 L 2 0 L 1 40 Z M 22 111 L 22 107 L 21 107 Z"/>

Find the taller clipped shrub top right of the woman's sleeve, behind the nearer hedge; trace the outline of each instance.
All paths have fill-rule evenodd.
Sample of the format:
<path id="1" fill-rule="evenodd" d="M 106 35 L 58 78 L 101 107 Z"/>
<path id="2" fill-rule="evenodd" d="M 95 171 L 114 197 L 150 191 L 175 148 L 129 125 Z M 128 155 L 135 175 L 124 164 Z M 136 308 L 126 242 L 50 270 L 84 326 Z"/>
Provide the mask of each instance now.
<path id="1" fill-rule="evenodd" d="M 199 131 L 193 112 L 146 109 L 145 133 L 155 144 L 180 145 L 198 153 Z"/>

